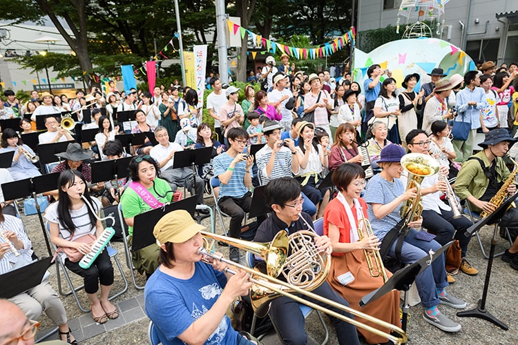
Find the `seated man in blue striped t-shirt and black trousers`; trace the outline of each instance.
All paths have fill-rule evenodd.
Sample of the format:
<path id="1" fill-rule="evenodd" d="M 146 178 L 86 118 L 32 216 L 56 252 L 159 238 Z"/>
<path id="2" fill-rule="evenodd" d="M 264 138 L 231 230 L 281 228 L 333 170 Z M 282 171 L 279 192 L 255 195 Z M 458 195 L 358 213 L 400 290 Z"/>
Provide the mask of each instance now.
<path id="1" fill-rule="evenodd" d="M 252 188 L 250 168 L 253 156 L 243 152 L 247 146 L 248 133 L 241 127 L 227 130 L 229 149 L 214 158 L 214 176 L 220 179 L 218 206 L 231 217 L 229 236 L 239 238 L 244 213 L 250 211 Z M 239 262 L 239 249 L 230 247 L 230 259 Z"/>

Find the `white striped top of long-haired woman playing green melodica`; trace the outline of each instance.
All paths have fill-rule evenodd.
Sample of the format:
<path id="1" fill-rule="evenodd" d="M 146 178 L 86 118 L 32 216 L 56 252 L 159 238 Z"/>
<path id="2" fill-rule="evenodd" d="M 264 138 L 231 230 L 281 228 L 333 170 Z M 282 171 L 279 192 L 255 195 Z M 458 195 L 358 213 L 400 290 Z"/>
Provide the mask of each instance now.
<path id="1" fill-rule="evenodd" d="M 96 211 L 96 215 L 99 214 L 99 210 L 101 209 L 101 203 L 99 200 L 92 198 L 93 200 L 93 209 Z M 47 211 L 45 213 L 45 219 L 52 223 L 59 224 L 59 236 L 63 239 L 70 240 L 70 232 L 66 230 L 66 228 L 59 221 L 59 216 L 57 215 L 57 205 L 58 202 L 51 204 L 48 206 Z M 74 222 L 74 237 L 73 239 L 77 239 L 78 237 L 84 235 L 94 235 L 95 234 L 95 223 L 90 221 L 90 216 L 88 215 L 88 206 L 83 204 L 79 210 L 70 210 L 70 216 L 72 217 L 72 221 Z"/>

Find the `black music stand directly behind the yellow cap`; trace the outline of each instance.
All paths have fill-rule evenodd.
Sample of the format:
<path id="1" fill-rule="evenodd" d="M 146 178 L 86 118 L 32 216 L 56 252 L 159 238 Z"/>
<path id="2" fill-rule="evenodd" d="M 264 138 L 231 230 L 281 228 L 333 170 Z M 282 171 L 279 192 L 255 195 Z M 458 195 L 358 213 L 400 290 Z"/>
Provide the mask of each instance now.
<path id="1" fill-rule="evenodd" d="M 147 212 L 136 215 L 133 221 L 133 242 L 131 251 L 139 250 L 156 243 L 153 228 L 166 213 L 173 210 L 186 210 L 191 217 L 194 217 L 196 210 L 196 196 L 188 197 L 180 201 L 166 204 L 164 207 L 148 210 Z"/>

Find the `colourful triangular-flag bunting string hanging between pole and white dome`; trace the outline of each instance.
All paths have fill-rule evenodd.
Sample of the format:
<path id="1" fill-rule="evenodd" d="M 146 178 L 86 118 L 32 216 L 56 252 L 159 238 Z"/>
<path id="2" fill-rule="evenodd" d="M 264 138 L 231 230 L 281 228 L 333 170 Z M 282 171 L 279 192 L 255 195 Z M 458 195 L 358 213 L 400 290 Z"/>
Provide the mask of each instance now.
<path id="1" fill-rule="evenodd" d="M 241 34 L 241 38 L 244 37 L 245 32 L 249 34 L 253 42 L 256 42 L 257 46 L 261 48 L 265 48 L 267 52 L 271 52 L 275 54 L 277 50 L 280 52 L 285 52 L 290 57 L 294 59 L 318 59 L 320 57 L 328 57 L 329 55 L 333 55 L 338 50 L 342 50 L 347 44 L 352 43 L 354 46 L 356 39 L 356 30 L 354 26 L 349 29 L 348 32 L 345 32 L 340 37 L 333 39 L 327 43 L 320 44 L 315 48 L 296 48 L 291 46 L 286 46 L 285 44 L 280 44 L 269 39 L 265 39 L 260 34 L 256 34 L 251 32 L 248 29 L 243 28 L 239 24 L 234 23 L 233 21 L 229 21 L 227 19 L 227 26 L 229 27 L 229 32 L 231 34 L 237 34 L 239 31 Z M 252 57 L 256 58 L 257 52 L 252 52 Z"/>

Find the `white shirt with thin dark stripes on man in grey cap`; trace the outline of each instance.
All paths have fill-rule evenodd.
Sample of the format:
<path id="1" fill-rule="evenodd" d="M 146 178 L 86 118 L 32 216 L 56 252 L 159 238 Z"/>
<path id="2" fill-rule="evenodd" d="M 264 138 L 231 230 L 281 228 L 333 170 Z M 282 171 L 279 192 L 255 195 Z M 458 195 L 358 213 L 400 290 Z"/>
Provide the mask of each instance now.
<path id="1" fill-rule="evenodd" d="M 274 168 L 271 170 L 271 174 L 268 177 L 266 166 L 268 165 L 272 152 L 274 152 L 274 150 L 268 145 L 265 145 L 256 153 L 256 164 L 261 184 L 263 186 L 271 179 L 277 179 L 278 177 L 293 177 L 293 173 L 291 171 L 291 161 L 293 158 L 291 157 L 291 151 L 285 146 L 282 146 L 282 148 L 280 148 L 276 153 Z"/>

